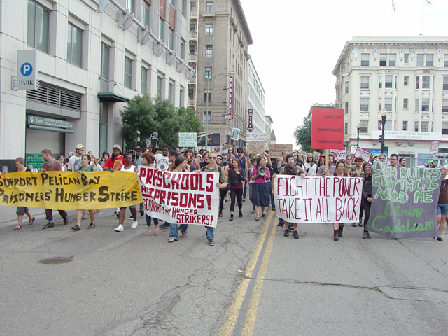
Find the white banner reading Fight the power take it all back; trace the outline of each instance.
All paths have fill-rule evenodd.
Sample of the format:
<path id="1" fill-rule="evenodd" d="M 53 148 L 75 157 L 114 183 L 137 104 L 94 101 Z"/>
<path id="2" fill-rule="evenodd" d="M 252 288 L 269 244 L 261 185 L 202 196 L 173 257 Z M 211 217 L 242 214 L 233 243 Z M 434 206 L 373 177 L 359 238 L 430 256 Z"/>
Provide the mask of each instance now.
<path id="1" fill-rule="evenodd" d="M 357 223 L 362 188 L 359 177 L 277 175 L 277 216 L 289 223 Z"/>

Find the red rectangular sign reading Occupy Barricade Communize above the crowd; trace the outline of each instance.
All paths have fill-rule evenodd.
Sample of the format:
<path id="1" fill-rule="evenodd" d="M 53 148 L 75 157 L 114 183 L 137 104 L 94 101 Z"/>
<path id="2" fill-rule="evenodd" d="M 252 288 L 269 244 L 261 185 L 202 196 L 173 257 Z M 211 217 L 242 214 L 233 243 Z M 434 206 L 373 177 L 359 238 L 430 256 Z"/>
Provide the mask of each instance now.
<path id="1" fill-rule="evenodd" d="M 311 148 L 344 148 L 344 110 L 316 107 L 311 116 Z"/>

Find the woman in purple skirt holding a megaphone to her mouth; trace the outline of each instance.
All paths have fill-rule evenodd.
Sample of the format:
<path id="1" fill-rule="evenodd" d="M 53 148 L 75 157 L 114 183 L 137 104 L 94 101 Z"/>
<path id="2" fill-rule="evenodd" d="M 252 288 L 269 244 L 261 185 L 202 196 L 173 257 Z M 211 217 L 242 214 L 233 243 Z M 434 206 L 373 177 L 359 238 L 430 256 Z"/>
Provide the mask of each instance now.
<path id="1" fill-rule="evenodd" d="M 261 172 L 260 172 L 261 169 Z M 253 168 L 251 179 L 253 179 L 253 203 L 255 204 L 255 221 L 260 221 L 261 216 L 265 216 L 265 207 L 269 207 L 271 195 L 269 195 L 269 186 L 267 181 L 271 178 L 271 172 L 266 167 L 266 159 L 260 156 L 257 160 L 257 166 Z"/>

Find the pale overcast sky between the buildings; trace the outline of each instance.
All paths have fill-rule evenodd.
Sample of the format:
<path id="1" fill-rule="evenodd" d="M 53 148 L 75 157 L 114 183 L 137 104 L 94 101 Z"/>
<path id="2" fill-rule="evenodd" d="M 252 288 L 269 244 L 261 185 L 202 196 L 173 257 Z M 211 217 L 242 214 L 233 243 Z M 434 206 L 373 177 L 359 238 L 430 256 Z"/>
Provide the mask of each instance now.
<path id="1" fill-rule="evenodd" d="M 314 103 L 335 102 L 332 70 L 353 36 L 448 36 L 448 0 L 240 0 L 251 30 L 251 54 L 265 88 L 265 114 L 277 144 Z M 423 6 L 424 3 L 424 6 Z M 424 7 L 424 9 L 423 9 Z"/>

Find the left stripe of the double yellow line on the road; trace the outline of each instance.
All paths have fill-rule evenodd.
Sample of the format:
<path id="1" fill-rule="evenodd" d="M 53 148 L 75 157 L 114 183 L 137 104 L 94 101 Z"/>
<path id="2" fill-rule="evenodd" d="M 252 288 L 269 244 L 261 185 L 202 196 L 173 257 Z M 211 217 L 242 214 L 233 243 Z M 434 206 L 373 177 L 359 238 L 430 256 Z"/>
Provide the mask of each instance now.
<path id="1" fill-rule="evenodd" d="M 221 330 L 219 331 L 219 336 L 230 336 L 233 333 L 235 325 L 238 320 L 239 311 L 241 310 L 241 305 L 243 304 L 244 297 L 246 296 L 247 288 L 249 282 L 251 281 L 251 277 L 253 274 L 253 270 L 255 269 L 255 265 L 257 265 L 258 258 L 260 258 L 260 253 L 262 250 L 262 246 L 265 243 L 267 230 L 269 229 L 269 225 L 271 224 L 272 217 L 274 216 L 274 211 L 271 211 L 269 214 L 267 221 L 265 223 L 265 227 L 262 230 L 260 238 L 258 238 L 257 244 L 252 252 L 251 258 L 248 261 L 246 267 L 246 278 L 241 281 L 238 286 L 237 292 L 235 293 L 235 297 L 233 299 L 232 304 L 227 312 L 227 318 L 225 319 L 225 323 L 221 326 Z M 274 225 L 275 228 L 275 225 Z M 274 230 L 273 230 L 274 231 Z M 271 232 L 272 234 L 272 232 Z M 272 246 L 271 246 L 272 248 Z M 270 253 L 270 252 L 269 252 Z M 267 267 L 267 265 L 266 265 Z M 263 274 L 264 275 L 264 274 Z M 258 306 L 258 304 L 257 304 Z"/>

